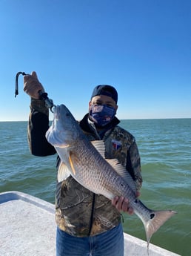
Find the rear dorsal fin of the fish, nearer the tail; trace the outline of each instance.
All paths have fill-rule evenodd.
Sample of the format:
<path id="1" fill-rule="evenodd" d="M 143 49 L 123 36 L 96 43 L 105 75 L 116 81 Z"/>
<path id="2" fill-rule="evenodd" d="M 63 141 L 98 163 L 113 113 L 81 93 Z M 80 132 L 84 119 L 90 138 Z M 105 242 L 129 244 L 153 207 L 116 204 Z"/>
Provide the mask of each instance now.
<path id="1" fill-rule="evenodd" d="M 129 171 L 127 171 L 127 169 L 124 168 L 124 166 L 121 165 L 121 163 L 119 163 L 117 159 L 106 159 L 106 161 L 114 168 L 118 175 L 120 175 L 124 179 L 124 181 L 130 186 L 130 188 L 136 194 L 136 184 L 133 178 L 131 177 Z"/>

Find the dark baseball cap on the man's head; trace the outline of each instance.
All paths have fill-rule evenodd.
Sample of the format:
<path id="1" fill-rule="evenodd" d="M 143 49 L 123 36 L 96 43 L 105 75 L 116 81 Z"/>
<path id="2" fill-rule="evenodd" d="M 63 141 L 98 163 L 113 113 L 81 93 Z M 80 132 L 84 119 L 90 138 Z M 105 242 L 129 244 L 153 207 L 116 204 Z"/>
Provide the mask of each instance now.
<path id="1" fill-rule="evenodd" d="M 115 104 L 118 102 L 118 92 L 111 85 L 97 85 L 93 90 L 91 99 L 98 95 L 110 96 L 115 101 Z"/>

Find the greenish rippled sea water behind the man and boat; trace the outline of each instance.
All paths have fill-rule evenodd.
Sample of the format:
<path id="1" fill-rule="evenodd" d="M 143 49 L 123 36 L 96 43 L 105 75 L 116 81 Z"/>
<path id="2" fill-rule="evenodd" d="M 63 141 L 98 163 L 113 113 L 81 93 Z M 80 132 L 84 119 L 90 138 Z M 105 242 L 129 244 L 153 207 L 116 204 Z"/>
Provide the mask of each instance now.
<path id="1" fill-rule="evenodd" d="M 151 240 L 190 255 L 191 119 L 122 120 L 136 138 L 144 178 L 141 200 L 152 209 L 178 211 Z M 0 122 L 0 192 L 22 191 L 54 203 L 56 156 L 34 157 L 27 145 L 27 122 Z M 145 240 L 144 226 L 124 214 L 124 232 Z"/>

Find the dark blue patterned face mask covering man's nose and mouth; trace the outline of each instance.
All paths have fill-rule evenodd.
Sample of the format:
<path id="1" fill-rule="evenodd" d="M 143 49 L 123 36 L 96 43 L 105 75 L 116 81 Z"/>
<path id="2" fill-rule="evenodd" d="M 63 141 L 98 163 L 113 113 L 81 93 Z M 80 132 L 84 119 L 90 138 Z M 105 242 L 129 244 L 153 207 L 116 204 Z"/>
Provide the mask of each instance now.
<path id="1" fill-rule="evenodd" d="M 98 127 L 103 127 L 113 120 L 115 116 L 115 108 L 107 105 L 92 105 L 90 109 L 90 119 L 96 123 Z"/>

